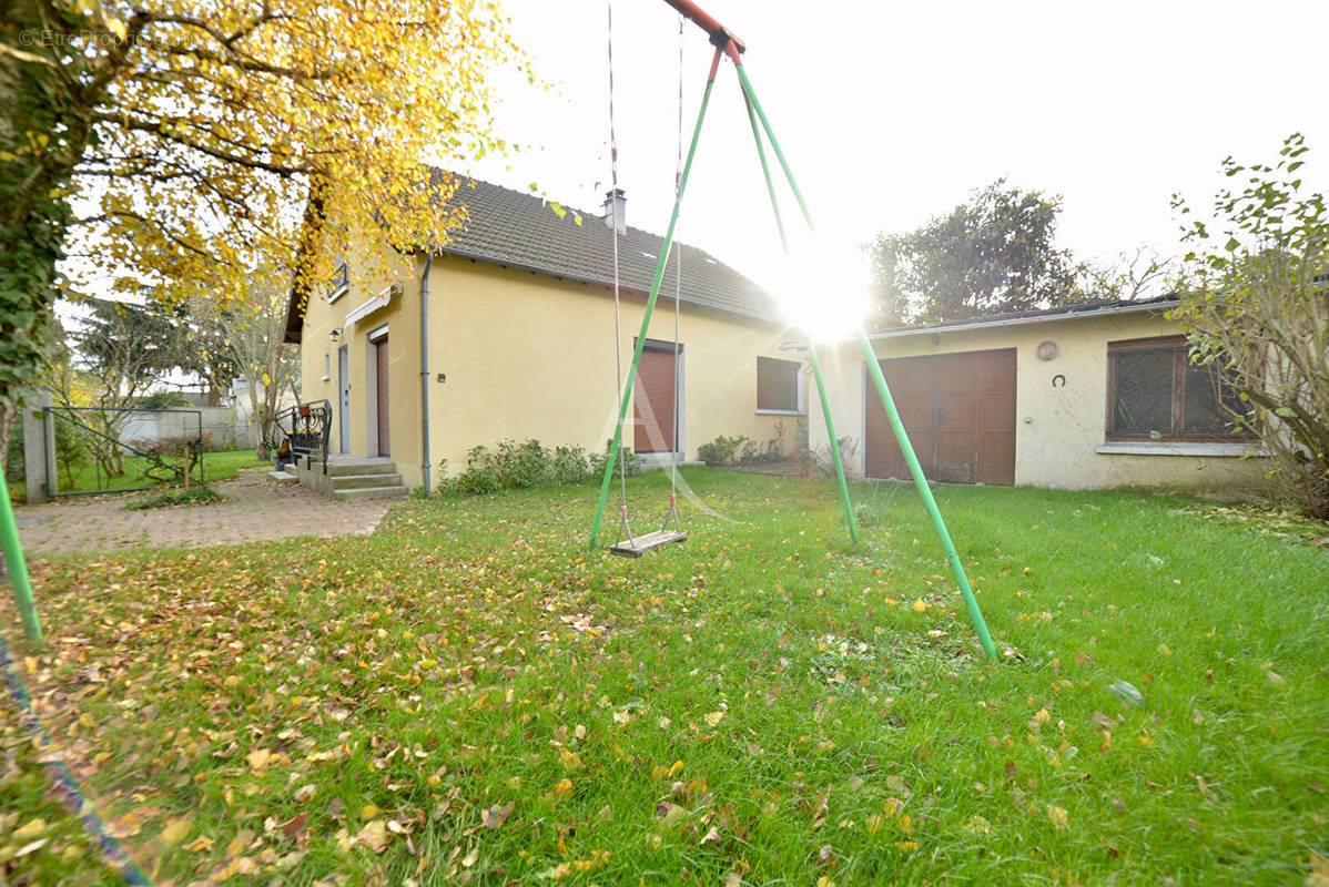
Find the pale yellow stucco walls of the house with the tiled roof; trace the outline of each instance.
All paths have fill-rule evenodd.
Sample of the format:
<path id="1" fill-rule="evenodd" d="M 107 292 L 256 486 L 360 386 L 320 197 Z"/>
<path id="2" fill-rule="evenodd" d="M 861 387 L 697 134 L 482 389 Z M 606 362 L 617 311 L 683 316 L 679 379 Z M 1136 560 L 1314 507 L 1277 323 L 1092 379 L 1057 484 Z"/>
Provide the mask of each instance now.
<path id="1" fill-rule="evenodd" d="M 351 451 L 368 454 L 372 398 L 369 381 L 372 329 L 388 324 L 392 360 L 392 459 L 408 486 L 421 483 L 420 469 L 420 272 L 403 275 L 401 295 L 350 325 L 342 343 L 351 351 Z M 334 327 L 369 297 L 352 289 L 334 304 L 311 300 L 302 348 L 304 400 L 327 398 L 336 406 L 339 343 Z M 622 364 L 626 372 L 641 328 L 645 299 L 625 296 Z M 614 434 L 614 303 L 605 287 L 550 275 L 502 268 L 452 256 L 435 259 L 429 276 L 429 417 L 433 481 L 440 459 L 448 471 L 465 469 L 466 451 L 510 438 L 537 438 L 546 446 L 577 444 L 601 450 Z M 650 339 L 672 341 L 672 305 L 661 301 Z M 779 351 L 788 333 L 775 325 L 739 321 L 719 312 L 686 307 L 682 312 L 684 458 L 719 434 L 744 434 L 764 442 L 784 424 L 792 444 L 797 416 L 756 410 L 758 356 L 797 360 Z M 324 376 L 324 357 L 331 373 Z M 447 374 L 439 382 L 439 373 Z M 807 400 L 807 378 L 804 400 Z M 633 444 L 631 408 L 625 441 Z M 338 429 L 334 422 L 332 449 Z"/>

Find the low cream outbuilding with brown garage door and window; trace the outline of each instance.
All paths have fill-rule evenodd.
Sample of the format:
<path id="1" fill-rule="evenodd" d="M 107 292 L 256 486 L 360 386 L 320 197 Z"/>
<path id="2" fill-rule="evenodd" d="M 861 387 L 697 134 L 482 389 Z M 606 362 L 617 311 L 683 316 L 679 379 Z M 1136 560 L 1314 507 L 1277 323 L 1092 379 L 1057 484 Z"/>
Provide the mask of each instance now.
<path id="1" fill-rule="evenodd" d="M 1235 436 L 1240 401 L 1192 366 L 1172 297 L 877 332 L 869 339 L 924 473 L 936 481 L 1247 493 L 1264 458 Z M 821 353 L 836 432 L 867 477 L 908 469 L 855 343 Z M 825 447 L 812 410 L 811 442 Z"/>

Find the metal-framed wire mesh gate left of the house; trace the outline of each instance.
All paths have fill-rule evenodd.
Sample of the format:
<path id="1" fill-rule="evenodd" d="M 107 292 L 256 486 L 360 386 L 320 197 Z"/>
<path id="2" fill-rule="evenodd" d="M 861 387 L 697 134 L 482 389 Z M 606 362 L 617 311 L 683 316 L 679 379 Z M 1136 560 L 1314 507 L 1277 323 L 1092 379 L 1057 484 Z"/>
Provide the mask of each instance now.
<path id="1" fill-rule="evenodd" d="M 203 413 L 137 406 L 43 408 L 47 495 L 203 483 Z"/>

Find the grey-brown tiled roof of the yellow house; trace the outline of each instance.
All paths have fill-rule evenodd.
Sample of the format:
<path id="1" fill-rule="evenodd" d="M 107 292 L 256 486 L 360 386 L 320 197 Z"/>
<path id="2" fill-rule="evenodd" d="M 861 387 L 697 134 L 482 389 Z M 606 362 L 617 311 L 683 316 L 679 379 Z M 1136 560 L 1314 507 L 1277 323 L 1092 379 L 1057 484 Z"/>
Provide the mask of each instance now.
<path id="1" fill-rule="evenodd" d="M 614 284 L 613 230 L 591 212 L 569 210 L 560 216 L 538 197 L 478 179 L 461 178 L 452 206 L 465 206 L 465 227 L 440 252 L 595 283 Z M 618 235 L 619 285 L 649 293 L 663 238 L 629 227 Z M 682 246 L 680 301 L 742 317 L 779 323 L 775 297 L 704 250 Z M 676 259 L 671 258 L 661 299 L 674 296 Z M 663 305 L 662 305 L 663 307 Z"/>

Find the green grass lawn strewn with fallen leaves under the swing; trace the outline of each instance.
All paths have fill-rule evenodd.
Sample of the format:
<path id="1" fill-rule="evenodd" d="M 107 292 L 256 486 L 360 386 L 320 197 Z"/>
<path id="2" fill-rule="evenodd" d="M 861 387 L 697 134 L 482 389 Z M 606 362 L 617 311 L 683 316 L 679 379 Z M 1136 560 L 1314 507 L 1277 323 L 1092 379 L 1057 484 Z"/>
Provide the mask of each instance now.
<path id="1" fill-rule="evenodd" d="M 591 487 L 411 501 L 367 538 L 39 563 L 49 644 L 0 624 L 158 883 L 1329 876 L 1329 551 L 941 487 L 990 665 L 912 487 L 855 490 L 855 546 L 824 483 L 687 478 L 692 536 L 637 562 L 586 552 Z M 667 478 L 630 494 L 645 526 Z M 12 884 L 104 871 L 15 845 Z"/>

